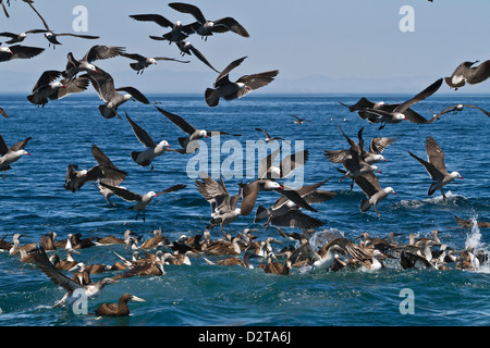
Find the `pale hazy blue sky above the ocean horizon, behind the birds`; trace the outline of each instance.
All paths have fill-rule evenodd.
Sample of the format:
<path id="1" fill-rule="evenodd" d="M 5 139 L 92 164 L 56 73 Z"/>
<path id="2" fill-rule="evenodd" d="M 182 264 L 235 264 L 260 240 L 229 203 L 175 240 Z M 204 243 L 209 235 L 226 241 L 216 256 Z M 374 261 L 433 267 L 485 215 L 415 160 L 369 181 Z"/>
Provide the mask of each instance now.
<path id="1" fill-rule="evenodd" d="M 62 70 L 68 52 L 81 58 L 96 44 L 124 46 L 127 52 L 147 55 L 179 58 L 179 49 L 172 44 L 154 41 L 149 35 L 167 32 L 154 23 L 136 22 L 130 14 L 158 13 L 171 21 L 193 22 L 189 14 L 179 13 L 167 3 L 155 0 L 36 0 L 36 9 L 50 27 L 58 33 L 73 33 L 72 14 L 76 5 L 88 10 L 89 35 L 98 40 L 61 37 L 62 46 L 47 48 L 41 35 L 32 35 L 23 45 L 46 47 L 46 51 L 30 61 L 0 63 L 0 74 L 23 76 L 17 86 L 0 83 L 0 90 L 29 90 L 45 70 Z M 191 1 L 189 1 L 191 2 Z M 250 34 L 243 38 L 232 33 L 218 34 L 203 41 L 197 36 L 188 40 L 196 46 L 218 70 L 231 61 L 247 55 L 248 59 L 231 75 L 279 70 L 280 75 L 270 91 L 308 88 L 308 80 L 316 76 L 315 88 L 322 89 L 339 80 L 350 80 L 352 91 L 392 90 L 393 82 L 403 88 L 403 79 L 411 80 L 408 90 L 419 91 L 434 78 L 443 77 L 463 61 L 489 58 L 488 45 L 481 38 L 489 33 L 488 0 L 196 0 L 206 17 L 233 16 Z M 399 13 L 403 5 L 412 5 L 415 13 L 415 32 L 403 33 Z M 11 18 L 0 15 L 1 30 L 22 32 L 42 28 L 30 8 L 21 1 L 11 1 Z M 137 76 L 128 69 L 125 59 L 96 62 L 110 72 L 117 85 L 138 84 L 140 89 L 170 91 L 185 88 L 201 90 L 212 84 L 216 73 L 195 58 L 189 64 L 161 62 Z M 30 74 L 30 75 L 26 75 Z M 34 77 L 36 76 L 36 77 Z M 32 86 L 26 79 L 32 79 Z M 324 79 L 323 79 L 324 78 Z M 332 78 L 330 82 L 328 78 Z M 385 80 L 385 85 L 383 85 Z M 359 85 L 362 84 L 362 86 Z M 369 86 L 373 84 L 373 86 Z M 143 87 L 140 87 L 143 86 Z M 350 85 L 347 85 L 350 86 Z M 282 88 L 282 89 L 281 89 Z M 344 88 L 346 88 L 344 86 Z M 181 90 L 177 90 L 181 91 Z M 322 90 L 318 90 L 321 92 Z M 407 91 L 407 90 L 403 90 Z M 485 84 L 471 86 L 471 91 L 486 91 Z"/>

